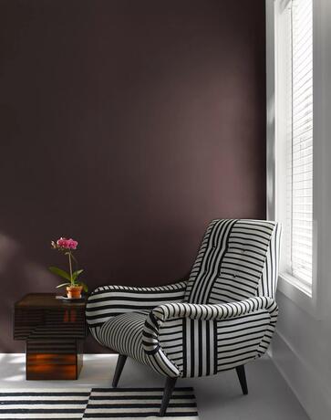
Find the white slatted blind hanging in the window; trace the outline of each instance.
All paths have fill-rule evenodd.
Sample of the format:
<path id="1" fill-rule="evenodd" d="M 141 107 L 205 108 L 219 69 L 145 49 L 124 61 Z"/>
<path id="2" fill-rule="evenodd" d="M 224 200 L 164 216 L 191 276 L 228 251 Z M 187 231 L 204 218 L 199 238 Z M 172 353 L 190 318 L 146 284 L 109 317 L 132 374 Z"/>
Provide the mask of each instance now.
<path id="1" fill-rule="evenodd" d="M 287 8 L 286 226 L 287 269 L 313 277 L 313 0 Z"/>

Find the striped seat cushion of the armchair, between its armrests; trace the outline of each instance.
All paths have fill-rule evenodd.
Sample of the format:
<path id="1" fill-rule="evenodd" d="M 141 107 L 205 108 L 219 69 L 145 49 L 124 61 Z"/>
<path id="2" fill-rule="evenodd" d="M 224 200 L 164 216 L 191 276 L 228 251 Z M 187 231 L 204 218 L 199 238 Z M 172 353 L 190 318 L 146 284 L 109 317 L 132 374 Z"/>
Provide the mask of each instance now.
<path id="1" fill-rule="evenodd" d="M 142 330 L 150 310 L 127 312 L 110 318 L 98 331 L 98 341 L 110 349 L 150 364 L 142 348 Z"/>

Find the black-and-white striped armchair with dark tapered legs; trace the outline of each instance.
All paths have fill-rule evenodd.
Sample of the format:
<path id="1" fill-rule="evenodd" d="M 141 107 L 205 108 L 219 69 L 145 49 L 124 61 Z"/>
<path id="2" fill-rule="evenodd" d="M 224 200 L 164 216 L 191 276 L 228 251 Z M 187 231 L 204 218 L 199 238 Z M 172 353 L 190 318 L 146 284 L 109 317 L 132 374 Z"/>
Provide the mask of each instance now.
<path id="1" fill-rule="evenodd" d="M 274 222 L 213 220 L 187 281 L 95 289 L 87 320 L 95 339 L 119 352 L 113 386 L 130 356 L 166 376 L 160 416 L 179 377 L 235 368 L 247 394 L 243 366 L 267 350 L 277 320 L 280 235 Z"/>

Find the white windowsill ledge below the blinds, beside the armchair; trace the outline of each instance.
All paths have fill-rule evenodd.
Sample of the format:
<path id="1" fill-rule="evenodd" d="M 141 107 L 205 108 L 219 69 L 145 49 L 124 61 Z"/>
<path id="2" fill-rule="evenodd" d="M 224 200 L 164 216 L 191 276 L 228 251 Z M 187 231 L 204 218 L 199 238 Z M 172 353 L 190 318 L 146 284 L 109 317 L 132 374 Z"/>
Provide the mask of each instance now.
<path id="1" fill-rule="evenodd" d="M 295 277 L 281 273 L 278 277 L 278 291 L 291 299 L 300 309 L 305 310 L 316 320 L 320 319 L 320 312 L 316 305 L 314 290 L 305 286 Z"/>

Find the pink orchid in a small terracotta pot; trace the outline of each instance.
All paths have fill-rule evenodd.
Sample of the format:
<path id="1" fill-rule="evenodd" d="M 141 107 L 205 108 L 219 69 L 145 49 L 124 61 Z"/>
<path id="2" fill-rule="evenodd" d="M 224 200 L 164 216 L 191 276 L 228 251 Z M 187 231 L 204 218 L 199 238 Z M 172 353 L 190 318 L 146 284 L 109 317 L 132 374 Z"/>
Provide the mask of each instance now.
<path id="1" fill-rule="evenodd" d="M 81 298 L 81 291 L 82 289 L 87 292 L 88 286 L 83 283 L 82 281 L 78 281 L 78 277 L 84 271 L 83 269 L 77 269 L 75 271 L 72 270 L 72 262 L 75 261 L 78 264 L 76 257 L 73 255 L 73 251 L 77 249 L 78 242 L 74 239 L 67 239 L 66 237 L 60 237 L 57 239 L 57 242 L 52 241 L 51 245 L 53 249 L 57 249 L 60 252 L 63 252 L 69 260 L 69 272 L 57 268 L 57 267 L 50 267 L 49 270 L 59 276 L 60 278 L 66 279 L 66 283 L 61 283 L 57 286 L 57 288 L 64 288 L 67 287 L 67 298 L 68 299 L 80 299 Z"/>

